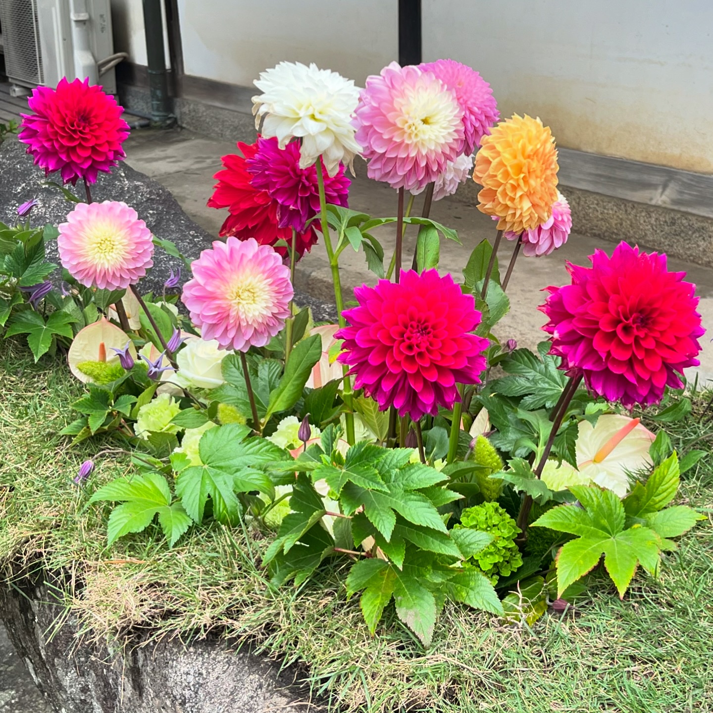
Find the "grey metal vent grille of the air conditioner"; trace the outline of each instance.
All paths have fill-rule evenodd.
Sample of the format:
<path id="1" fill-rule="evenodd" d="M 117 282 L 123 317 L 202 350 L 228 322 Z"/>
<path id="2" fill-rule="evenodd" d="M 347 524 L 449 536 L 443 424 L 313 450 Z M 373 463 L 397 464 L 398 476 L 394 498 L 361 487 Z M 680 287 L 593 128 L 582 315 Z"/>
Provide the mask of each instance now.
<path id="1" fill-rule="evenodd" d="M 43 83 L 36 0 L 0 0 L 5 71 L 11 81 Z"/>

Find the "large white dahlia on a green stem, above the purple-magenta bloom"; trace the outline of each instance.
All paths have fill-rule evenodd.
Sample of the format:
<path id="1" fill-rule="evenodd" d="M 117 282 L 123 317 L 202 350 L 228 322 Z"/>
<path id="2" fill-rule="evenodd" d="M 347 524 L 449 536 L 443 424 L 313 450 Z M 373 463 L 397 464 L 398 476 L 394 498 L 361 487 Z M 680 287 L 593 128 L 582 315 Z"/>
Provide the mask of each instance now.
<path id="1" fill-rule="evenodd" d="M 322 156 L 327 173 L 337 175 L 339 163 L 352 168 L 361 147 L 351 124 L 359 89 L 337 72 L 299 62 L 280 62 L 260 73 L 255 86 L 262 91 L 252 98 L 255 128 L 276 136 L 279 148 L 290 139 L 302 138 L 299 168 L 307 168 Z M 352 169 L 353 170 L 353 169 Z"/>

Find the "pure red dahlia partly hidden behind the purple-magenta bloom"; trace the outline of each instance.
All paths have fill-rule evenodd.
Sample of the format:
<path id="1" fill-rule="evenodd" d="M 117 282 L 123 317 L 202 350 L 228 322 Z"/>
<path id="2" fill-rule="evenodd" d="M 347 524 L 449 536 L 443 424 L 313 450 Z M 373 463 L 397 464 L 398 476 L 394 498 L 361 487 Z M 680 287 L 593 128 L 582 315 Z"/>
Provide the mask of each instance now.
<path id="1" fill-rule="evenodd" d="M 238 240 L 254 237 L 260 245 L 274 245 L 278 240 L 291 244 L 292 230 L 278 225 L 279 202 L 266 190 L 253 185 L 254 177 L 247 170 L 247 161 L 255 158 L 257 153 L 257 143 L 238 142 L 237 148 L 242 151 L 242 156 L 229 153 L 222 157 L 225 168 L 215 174 L 218 182 L 207 204 L 212 208 L 227 208 L 230 212 L 220 228 L 220 237 L 235 236 Z M 304 232 L 298 232 L 297 255 L 302 257 L 316 242 L 317 232 L 312 225 Z M 287 255 L 286 247 L 275 249 L 282 257 Z"/>

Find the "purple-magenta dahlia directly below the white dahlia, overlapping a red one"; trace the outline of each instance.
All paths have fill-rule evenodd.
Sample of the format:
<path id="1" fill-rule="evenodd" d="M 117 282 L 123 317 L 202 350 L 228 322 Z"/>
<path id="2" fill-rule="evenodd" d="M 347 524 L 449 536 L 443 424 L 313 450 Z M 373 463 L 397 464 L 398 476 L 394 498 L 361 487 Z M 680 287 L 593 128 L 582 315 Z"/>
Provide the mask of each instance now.
<path id="1" fill-rule="evenodd" d="M 318 160 L 322 161 L 322 158 Z M 257 152 L 245 161 L 245 165 L 252 175 L 250 183 L 266 191 L 279 203 L 279 227 L 304 232 L 304 225 L 319 212 L 319 187 L 314 163 L 307 168 L 299 168 L 299 143 L 292 141 L 280 149 L 276 137 L 258 138 Z M 347 207 L 352 182 L 344 175 L 344 165 L 339 164 L 334 176 L 327 175 L 324 161 L 322 169 L 327 203 Z"/>

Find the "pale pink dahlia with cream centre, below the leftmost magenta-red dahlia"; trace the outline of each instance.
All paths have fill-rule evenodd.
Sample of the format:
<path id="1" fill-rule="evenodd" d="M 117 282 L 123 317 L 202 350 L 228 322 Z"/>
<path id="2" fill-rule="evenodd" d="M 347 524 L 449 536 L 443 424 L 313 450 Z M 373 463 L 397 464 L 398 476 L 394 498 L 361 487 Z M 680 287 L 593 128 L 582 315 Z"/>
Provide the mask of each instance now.
<path id="1" fill-rule="evenodd" d="M 151 231 L 118 200 L 78 203 L 58 230 L 62 267 L 86 287 L 126 289 L 153 266 Z"/>

